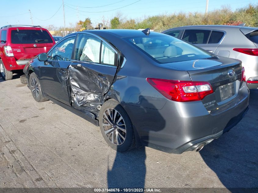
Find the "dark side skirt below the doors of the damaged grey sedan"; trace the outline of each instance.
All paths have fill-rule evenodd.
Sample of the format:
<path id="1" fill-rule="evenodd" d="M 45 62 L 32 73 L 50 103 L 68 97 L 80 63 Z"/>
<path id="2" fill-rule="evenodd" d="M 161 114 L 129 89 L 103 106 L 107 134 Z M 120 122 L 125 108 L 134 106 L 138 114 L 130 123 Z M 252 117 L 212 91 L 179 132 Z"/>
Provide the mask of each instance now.
<path id="1" fill-rule="evenodd" d="M 48 98 L 50 101 L 56 103 L 57 105 L 63 107 L 64 109 L 67 109 L 68 111 L 71 111 L 72 113 L 74 113 L 75 115 L 78 115 L 80 117 L 82 117 L 83 119 L 89 121 L 90 123 L 96 125 L 96 126 L 99 126 L 99 121 L 94 119 L 93 117 L 95 117 L 95 115 L 93 115 L 92 113 L 90 113 L 89 111 L 88 112 L 85 112 L 85 111 L 80 111 L 78 109 L 74 109 L 73 107 L 71 106 L 68 106 L 48 95 L 46 95 L 46 98 Z"/>

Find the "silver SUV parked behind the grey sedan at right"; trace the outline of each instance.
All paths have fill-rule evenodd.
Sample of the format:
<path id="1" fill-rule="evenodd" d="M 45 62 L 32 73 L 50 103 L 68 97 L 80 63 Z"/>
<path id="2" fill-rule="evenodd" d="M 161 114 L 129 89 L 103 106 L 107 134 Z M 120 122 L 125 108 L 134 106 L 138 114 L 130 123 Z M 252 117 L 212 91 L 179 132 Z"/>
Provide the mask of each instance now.
<path id="1" fill-rule="evenodd" d="M 218 56 L 239 59 L 249 88 L 258 88 L 258 28 L 227 25 L 176 27 L 162 33 L 183 39 Z"/>

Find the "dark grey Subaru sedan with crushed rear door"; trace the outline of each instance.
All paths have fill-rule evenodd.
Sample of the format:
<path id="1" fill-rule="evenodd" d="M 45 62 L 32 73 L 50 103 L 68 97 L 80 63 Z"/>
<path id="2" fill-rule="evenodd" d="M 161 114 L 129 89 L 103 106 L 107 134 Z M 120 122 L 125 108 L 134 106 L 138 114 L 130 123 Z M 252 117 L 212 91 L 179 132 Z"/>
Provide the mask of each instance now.
<path id="1" fill-rule="evenodd" d="M 199 151 L 248 109 L 241 61 L 139 30 L 69 34 L 24 68 L 34 99 L 99 125 L 107 144 Z"/>

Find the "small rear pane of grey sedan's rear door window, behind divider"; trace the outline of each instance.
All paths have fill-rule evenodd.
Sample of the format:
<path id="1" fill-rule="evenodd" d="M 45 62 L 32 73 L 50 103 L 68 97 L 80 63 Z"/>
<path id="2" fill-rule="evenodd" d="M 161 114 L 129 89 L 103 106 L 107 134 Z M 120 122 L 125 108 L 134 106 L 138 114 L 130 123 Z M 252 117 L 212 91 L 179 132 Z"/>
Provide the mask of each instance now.
<path id="1" fill-rule="evenodd" d="M 105 42 L 102 41 L 101 46 L 101 64 L 108 64 L 114 66 L 115 52 Z"/>

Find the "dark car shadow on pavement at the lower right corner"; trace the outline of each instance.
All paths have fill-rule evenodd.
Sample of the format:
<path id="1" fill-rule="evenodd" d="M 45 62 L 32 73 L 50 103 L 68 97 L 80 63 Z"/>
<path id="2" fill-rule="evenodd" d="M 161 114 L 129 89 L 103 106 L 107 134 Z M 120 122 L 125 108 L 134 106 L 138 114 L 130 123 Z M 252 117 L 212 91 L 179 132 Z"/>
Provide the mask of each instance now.
<path id="1" fill-rule="evenodd" d="M 244 118 L 200 151 L 207 166 L 233 193 L 251 192 L 253 190 L 245 188 L 258 188 L 257 99 L 258 90 L 250 90 L 249 111 Z"/>

